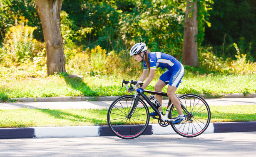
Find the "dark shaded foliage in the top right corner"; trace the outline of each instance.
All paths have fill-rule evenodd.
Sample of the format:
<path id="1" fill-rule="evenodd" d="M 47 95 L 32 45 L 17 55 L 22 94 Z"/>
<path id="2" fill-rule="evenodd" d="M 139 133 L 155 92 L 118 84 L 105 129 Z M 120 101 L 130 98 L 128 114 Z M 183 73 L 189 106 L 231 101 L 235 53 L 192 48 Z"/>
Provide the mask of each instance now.
<path id="1" fill-rule="evenodd" d="M 213 0 L 209 10 L 209 22 L 205 28 L 203 46 L 211 45 L 216 56 L 235 59 L 233 43 L 238 43 L 241 54 L 251 61 L 256 57 L 256 1 L 255 0 Z"/>

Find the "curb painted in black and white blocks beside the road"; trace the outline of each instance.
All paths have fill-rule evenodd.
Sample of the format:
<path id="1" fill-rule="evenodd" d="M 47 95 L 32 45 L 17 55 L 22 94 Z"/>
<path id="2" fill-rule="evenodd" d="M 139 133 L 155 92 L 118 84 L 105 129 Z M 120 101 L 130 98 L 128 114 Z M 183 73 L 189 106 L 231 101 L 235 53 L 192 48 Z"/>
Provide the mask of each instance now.
<path id="1" fill-rule="evenodd" d="M 256 121 L 210 123 L 204 133 L 229 133 L 256 131 Z M 144 135 L 176 134 L 171 126 L 150 124 Z M 114 136 L 108 126 L 71 126 L 38 128 L 0 128 L 0 139 L 10 138 L 74 138 Z"/>

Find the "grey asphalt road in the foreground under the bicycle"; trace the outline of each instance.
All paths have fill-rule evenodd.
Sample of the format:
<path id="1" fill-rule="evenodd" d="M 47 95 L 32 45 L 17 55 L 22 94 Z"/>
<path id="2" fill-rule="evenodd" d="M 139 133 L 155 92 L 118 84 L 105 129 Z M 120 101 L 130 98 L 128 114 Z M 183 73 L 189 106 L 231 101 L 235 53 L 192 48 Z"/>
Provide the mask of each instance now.
<path id="1" fill-rule="evenodd" d="M 232 156 L 254 157 L 256 132 L 142 135 L 132 140 L 115 136 L 0 140 L 0 156 Z"/>

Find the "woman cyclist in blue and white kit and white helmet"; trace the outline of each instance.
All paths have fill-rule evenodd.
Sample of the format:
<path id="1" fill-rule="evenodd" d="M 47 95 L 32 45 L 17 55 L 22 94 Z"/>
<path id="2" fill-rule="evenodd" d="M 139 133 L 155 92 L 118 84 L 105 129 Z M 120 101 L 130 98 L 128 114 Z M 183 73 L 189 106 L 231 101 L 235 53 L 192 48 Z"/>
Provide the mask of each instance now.
<path id="1" fill-rule="evenodd" d="M 147 80 L 144 82 L 143 86 L 137 89 L 138 93 L 142 93 L 144 89 L 150 84 L 150 82 L 154 78 L 155 70 L 157 67 L 161 67 L 162 69 L 166 68 L 167 70 L 159 77 L 156 85 L 154 86 L 154 90 L 158 92 L 162 92 L 164 86 L 167 85 L 165 83 L 169 80 L 169 85 L 167 88 L 167 95 L 171 99 L 172 103 L 176 107 L 179 116 L 172 122 L 173 124 L 180 123 L 184 121 L 185 115 L 182 112 L 181 105 L 179 103 L 179 99 L 174 94 L 179 83 L 184 76 L 184 67 L 183 65 L 176 60 L 173 56 L 170 56 L 166 53 L 161 52 L 149 52 L 147 50 L 147 46 L 145 43 L 136 43 L 132 46 L 130 50 L 130 56 L 133 56 L 135 60 L 138 62 L 143 62 L 143 72 L 141 77 L 139 77 L 139 81 L 144 82 L 147 77 L 147 73 L 149 71 L 149 76 Z M 162 96 L 156 95 L 156 99 L 162 104 Z M 158 109 L 162 114 L 162 106 Z M 157 116 L 157 113 L 152 112 L 150 116 Z"/>

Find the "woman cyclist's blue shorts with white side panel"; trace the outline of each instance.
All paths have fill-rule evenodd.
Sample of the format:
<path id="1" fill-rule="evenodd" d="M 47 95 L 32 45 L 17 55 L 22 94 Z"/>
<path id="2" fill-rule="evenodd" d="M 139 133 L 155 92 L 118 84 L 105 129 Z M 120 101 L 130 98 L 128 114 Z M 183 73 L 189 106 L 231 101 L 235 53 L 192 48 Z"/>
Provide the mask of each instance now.
<path id="1" fill-rule="evenodd" d="M 183 65 L 179 61 L 176 61 L 176 63 L 171 68 L 166 70 L 159 77 L 159 80 L 164 81 L 166 85 L 168 84 L 166 81 L 169 80 L 170 86 L 178 87 L 182 77 L 184 76 L 184 72 L 185 71 Z"/>

